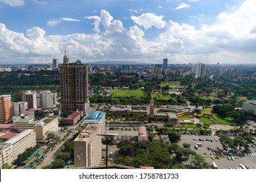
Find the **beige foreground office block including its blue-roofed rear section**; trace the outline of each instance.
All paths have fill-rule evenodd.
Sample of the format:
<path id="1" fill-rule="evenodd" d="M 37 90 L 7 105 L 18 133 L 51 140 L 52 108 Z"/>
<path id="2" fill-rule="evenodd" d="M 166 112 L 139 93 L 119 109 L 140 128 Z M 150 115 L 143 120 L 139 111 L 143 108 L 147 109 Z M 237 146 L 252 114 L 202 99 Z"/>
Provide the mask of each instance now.
<path id="1" fill-rule="evenodd" d="M 106 113 L 91 112 L 83 121 L 85 129 L 74 140 L 74 166 L 99 166 L 102 160 L 102 136 L 105 132 Z"/>

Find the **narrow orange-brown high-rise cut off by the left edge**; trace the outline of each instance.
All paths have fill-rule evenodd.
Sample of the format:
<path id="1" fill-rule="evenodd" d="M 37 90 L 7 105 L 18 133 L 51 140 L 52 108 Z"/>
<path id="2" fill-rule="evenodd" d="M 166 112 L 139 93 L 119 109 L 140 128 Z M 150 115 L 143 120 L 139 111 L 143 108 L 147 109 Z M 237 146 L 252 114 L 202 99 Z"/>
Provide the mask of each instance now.
<path id="1" fill-rule="evenodd" d="M 12 119 L 12 98 L 10 95 L 0 96 L 0 123 L 10 122 Z"/>

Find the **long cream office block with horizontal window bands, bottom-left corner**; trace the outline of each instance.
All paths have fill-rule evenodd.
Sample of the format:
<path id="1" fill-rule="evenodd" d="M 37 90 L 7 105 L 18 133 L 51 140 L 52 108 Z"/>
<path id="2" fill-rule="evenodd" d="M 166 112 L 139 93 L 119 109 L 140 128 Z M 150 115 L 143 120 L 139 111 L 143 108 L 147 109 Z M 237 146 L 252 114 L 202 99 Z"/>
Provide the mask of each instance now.
<path id="1" fill-rule="evenodd" d="M 36 146 L 36 133 L 33 129 L 22 131 L 6 142 L 0 143 L 0 166 L 3 163 L 12 164 L 18 155 L 27 148 Z"/>

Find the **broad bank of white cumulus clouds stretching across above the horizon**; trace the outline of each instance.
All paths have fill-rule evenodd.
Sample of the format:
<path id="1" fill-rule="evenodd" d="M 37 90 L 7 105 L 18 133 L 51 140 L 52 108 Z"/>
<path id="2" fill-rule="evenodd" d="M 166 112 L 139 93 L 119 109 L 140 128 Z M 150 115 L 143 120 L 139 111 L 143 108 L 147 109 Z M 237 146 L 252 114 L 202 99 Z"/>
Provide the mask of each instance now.
<path id="1" fill-rule="evenodd" d="M 201 27 L 164 21 L 163 16 L 150 13 L 133 16 L 137 25 L 125 27 L 122 21 L 101 10 L 98 16 L 85 17 L 94 21 L 94 34 L 47 36 L 44 29 L 32 27 L 24 35 L 10 31 L 0 23 L 0 59 L 29 57 L 51 61 L 50 56 L 61 59 L 66 48 L 70 57 L 81 57 L 83 62 L 135 60 L 149 63 L 169 57 L 171 62 L 184 63 L 197 60 L 208 63 L 247 60 L 253 63 L 256 57 L 255 9 L 255 1 L 247 0 L 236 11 L 222 12 L 214 23 Z M 158 30 L 156 38 L 147 40 L 143 30 L 152 26 L 164 29 Z"/>

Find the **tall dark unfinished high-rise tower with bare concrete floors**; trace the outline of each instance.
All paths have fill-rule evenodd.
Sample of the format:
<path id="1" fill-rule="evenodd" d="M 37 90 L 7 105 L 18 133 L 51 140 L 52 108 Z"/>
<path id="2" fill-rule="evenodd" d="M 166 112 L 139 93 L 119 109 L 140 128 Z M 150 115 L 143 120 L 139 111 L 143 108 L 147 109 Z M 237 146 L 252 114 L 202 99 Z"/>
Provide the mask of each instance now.
<path id="1" fill-rule="evenodd" d="M 88 64 L 63 64 L 59 66 L 61 85 L 61 111 L 66 114 L 89 109 Z"/>

